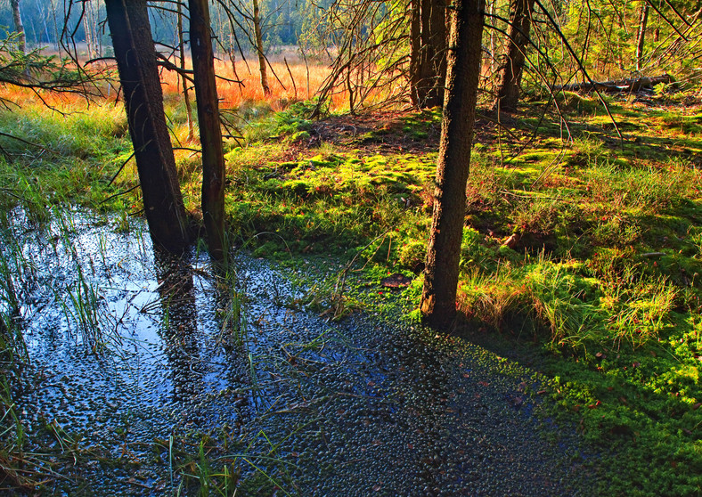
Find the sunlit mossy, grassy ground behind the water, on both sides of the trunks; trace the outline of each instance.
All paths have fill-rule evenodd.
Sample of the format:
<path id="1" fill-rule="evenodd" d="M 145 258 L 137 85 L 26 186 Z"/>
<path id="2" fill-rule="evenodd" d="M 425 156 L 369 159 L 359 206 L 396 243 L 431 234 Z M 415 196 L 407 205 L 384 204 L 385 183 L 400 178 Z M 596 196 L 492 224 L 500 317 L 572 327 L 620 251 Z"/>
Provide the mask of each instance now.
<path id="1" fill-rule="evenodd" d="M 183 109 L 168 105 L 182 136 Z M 242 139 L 226 147 L 235 244 L 276 261 L 363 267 L 355 289 L 310 297 L 321 314 L 399 306 L 416 319 L 439 111 L 311 121 L 308 110 L 240 114 Z M 478 117 L 455 335 L 542 375 L 532 393 L 542 420 L 575 427 L 599 454 L 584 462 L 607 482 L 593 494 L 698 495 L 700 95 L 608 97 L 608 115 L 591 96 L 567 94 L 559 110 L 534 100 L 501 122 Z M 25 106 L 0 115 L 0 129 L 41 145 L 3 142 L 5 212 L 19 202 L 50 217 L 51 199 L 118 212 L 125 224 L 139 214 L 135 167 L 120 168 L 131 150 L 119 110 L 61 117 Z M 176 154 L 197 217 L 199 158 Z M 409 286 L 383 287 L 395 273 Z"/>

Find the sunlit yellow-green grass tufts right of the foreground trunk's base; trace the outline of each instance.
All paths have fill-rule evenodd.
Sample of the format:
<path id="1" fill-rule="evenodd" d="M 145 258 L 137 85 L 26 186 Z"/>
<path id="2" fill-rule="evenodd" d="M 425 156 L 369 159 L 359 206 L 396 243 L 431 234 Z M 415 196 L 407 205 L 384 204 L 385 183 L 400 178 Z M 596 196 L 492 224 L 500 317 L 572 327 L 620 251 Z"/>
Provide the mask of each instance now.
<path id="1" fill-rule="evenodd" d="M 459 284 L 459 308 L 498 330 L 531 323 L 557 346 L 641 346 L 671 322 L 678 290 L 665 279 L 607 281 L 582 264 L 543 256 L 496 271 L 473 269 Z M 512 330 L 514 331 L 514 330 Z"/>

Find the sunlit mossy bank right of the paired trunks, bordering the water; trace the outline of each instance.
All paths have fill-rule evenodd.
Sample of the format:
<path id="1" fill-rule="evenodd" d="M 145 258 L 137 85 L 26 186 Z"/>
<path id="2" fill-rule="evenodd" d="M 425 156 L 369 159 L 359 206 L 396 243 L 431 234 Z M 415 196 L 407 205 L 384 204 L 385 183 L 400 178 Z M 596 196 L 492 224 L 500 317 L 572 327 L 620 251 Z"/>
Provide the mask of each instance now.
<path id="1" fill-rule="evenodd" d="M 469 329 L 482 330 L 471 338 L 489 342 L 498 331 L 502 347 L 532 357 L 552 379 L 550 415 L 605 454 L 597 464 L 612 486 L 604 493 L 697 494 L 702 175 L 690 151 L 702 145 L 702 126 L 698 110 L 674 104 L 610 104 L 623 142 L 596 104 L 567 114 L 573 143 L 548 124 L 533 136 L 538 117 L 528 115 L 509 134 L 480 131 L 460 308 Z M 437 126 L 429 119 L 406 118 L 389 134 L 422 139 Z M 261 256 L 363 248 L 367 270 L 418 275 L 405 291 L 416 306 L 435 156 L 354 147 L 292 161 L 277 145 L 237 149 L 232 226 L 242 239 L 275 231 L 287 240 L 259 237 Z"/>

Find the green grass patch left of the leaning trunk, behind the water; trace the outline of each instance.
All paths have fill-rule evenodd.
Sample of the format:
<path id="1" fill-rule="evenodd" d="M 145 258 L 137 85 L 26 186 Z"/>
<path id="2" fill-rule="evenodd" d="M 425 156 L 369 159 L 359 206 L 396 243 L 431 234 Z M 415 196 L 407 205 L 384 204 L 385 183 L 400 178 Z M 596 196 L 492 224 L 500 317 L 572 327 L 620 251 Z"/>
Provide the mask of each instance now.
<path id="1" fill-rule="evenodd" d="M 19 110 L 0 112 L 0 132 L 24 141 L 0 137 L 9 157 L 0 159 L 0 199 L 6 208 L 22 204 L 37 220 L 48 220 L 51 205 L 102 207 L 136 184 L 130 167 L 110 184 L 131 151 L 119 107 L 74 102 L 53 111 L 28 100 Z M 123 207 L 119 197 L 111 202 Z"/>

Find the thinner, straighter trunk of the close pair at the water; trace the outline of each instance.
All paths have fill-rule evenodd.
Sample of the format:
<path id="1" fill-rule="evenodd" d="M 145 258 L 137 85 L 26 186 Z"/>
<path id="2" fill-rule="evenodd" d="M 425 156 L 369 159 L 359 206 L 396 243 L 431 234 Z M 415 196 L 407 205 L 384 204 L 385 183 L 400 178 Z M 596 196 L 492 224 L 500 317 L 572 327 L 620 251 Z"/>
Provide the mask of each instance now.
<path id="1" fill-rule="evenodd" d="M 190 48 L 202 147 L 202 216 L 210 255 L 226 257 L 224 240 L 224 151 L 215 81 L 215 54 L 209 33 L 208 0 L 189 0 Z"/>

